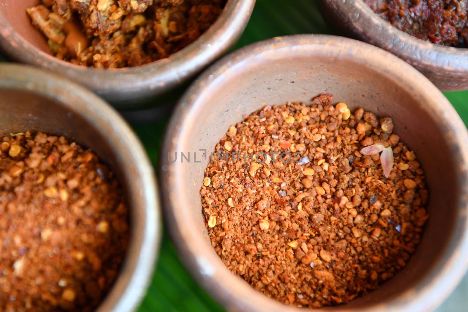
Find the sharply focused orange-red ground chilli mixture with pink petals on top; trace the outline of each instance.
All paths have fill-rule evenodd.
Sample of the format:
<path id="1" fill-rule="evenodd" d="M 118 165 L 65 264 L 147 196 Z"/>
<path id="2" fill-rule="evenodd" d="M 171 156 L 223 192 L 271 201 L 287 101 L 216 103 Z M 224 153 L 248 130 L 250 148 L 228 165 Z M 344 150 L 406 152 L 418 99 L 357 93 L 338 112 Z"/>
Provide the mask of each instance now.
<path id="1" fill-rule="evenodd" d="M 212 246 L 235 275 L 318 308 L 364 295 L 406 265 L 429 218 L 428 191 L 391 118 L 352 114 L 331 94 L 244 118 L 216 145 L 200 190 Z M 254 156 L 244 162 L 244 153 Z"/>

